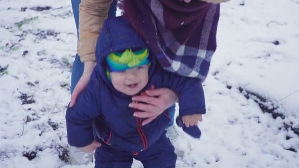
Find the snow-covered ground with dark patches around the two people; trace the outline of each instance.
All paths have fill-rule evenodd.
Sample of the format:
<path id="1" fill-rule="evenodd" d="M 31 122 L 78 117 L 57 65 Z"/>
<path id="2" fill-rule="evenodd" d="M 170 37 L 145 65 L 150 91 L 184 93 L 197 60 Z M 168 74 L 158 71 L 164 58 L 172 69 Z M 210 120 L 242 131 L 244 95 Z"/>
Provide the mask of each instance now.
<path id="1" fill-rule="evenodd" d="M 0 168 L 86 168 L 64 162 L 77 42 L 70 0 L 0 4 Z M 194 168 L 299 168 L 299 0 L 222 4 L 217 40 L 202 138 L 179 130 L 179 159 Z"/>

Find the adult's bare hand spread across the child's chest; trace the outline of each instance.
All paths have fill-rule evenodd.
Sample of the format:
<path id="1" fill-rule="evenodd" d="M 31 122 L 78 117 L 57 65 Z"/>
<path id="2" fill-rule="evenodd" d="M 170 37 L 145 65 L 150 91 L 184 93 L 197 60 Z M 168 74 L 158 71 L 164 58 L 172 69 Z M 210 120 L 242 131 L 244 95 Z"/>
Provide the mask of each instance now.
<path id="1" fill-rule="evenodd" d="M 168 88 L 159 88 L 147 90 L 146 95 L 134 96 L 132 100 L 133 102 L 129 104 L 129 107 L 139 110 L 134 112 L 133 115 L 139 118 L 147 118 L 142 122 L 142 125 L 146 125 L 176 103 L 178 96 Z"/>

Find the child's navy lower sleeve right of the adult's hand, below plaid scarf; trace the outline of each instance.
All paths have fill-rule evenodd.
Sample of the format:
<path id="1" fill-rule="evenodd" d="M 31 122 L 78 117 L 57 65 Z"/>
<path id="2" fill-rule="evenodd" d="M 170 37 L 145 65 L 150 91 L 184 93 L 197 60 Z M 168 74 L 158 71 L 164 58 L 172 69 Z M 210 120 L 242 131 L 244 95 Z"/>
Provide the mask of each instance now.
<path id="1" fill-rule="evenodd" d="M 170 76 L 170 88 L 179 96 L 179 115 L 204 114 L 206 103 L 203 85 L 198 78 Z"/>

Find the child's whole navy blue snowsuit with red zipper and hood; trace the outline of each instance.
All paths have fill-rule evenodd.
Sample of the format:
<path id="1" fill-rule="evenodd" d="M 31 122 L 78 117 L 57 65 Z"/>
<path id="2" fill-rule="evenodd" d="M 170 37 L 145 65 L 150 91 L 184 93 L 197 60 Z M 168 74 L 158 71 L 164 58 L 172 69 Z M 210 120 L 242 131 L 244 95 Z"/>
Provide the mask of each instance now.
<path id="1" fill-rule="evenodd" d="M 142 126 L 143 119 L 134 117 L 134 109 L 128 108 L 131 97 L 116 90 L 106 76 L 105 58 L 110 53 L 145 47 L 146 44 L 123 17 L 106 20 L 96 45 L 97 64 L 90 82 L 75 106 L 67 108 L 68 143 L 83 147 L 96 139 L 102 144 L 96 149 L 96 168 L 127 168 L 133 158 L 140 160 L 145 168 L 175 167 L 177 156 L 165 136 L 165 128 L 170 122 L 168 111 Z M 152 85 L 155 88 L 167 87 L 179 95 L 179 115 L 206 112 L 199 79 L 163 70 L 150 53 L 149 60 L 149 82 L 140 93 Z"/>

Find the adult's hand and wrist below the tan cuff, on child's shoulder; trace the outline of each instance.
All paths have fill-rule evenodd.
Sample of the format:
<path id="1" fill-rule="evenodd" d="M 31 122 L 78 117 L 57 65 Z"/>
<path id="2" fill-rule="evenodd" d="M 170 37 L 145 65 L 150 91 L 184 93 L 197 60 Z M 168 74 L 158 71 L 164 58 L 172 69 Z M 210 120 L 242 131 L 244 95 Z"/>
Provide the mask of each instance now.
<path id="1" fill-rule="evenodd" d="M 90 81 L 91 72 L 95 65 L 96 65 L 96 62 L 94 62 L 94 61 L 84 62 L 84 71 L 83 71 L 83 74 L 82 74 L 80 80 L 78 81 L 78 83 L 76 84 L 76 86 L 74 88 L 69 107 L 73 107 L 76 104 L 78 95 L 82 92 L 82 90 L 84 90 L 86 88 L 88 82 Z"/>

